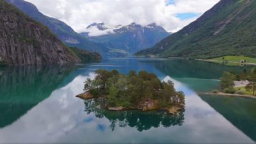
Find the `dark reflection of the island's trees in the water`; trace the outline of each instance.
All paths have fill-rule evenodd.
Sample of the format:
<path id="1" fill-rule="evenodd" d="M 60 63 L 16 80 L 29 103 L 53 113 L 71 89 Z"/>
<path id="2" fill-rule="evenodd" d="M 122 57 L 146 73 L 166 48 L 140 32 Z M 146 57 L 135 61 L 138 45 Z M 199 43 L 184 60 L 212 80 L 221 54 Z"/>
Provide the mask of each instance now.
<path id="1" fill-rule="evenodd" d="M 84 100 L 84 111 L 93 113 L 97 118 L 108 118 L 109 129 L 115 131 L 119 127 L 135 127 L 138 131 L 147 131 L 152 127 L 171 127 L 184 124 L 184 111 L 170 115 L 164 111 L 108 111 L 99 108 L 100 99 Z"/>

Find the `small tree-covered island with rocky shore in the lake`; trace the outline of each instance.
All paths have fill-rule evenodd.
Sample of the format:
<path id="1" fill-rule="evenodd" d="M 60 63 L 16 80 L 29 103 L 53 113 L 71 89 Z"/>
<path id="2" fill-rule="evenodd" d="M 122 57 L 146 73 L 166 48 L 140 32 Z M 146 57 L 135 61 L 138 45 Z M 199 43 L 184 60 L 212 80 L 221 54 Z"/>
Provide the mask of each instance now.
<path id="1" fill-rule="evenodd" d="M 184 110 L 185 97 L 177 92 L 172 81 L 161 82 L 155 74 L 131 70 L 120 74 L 117 70 L 96 70 L 95 79 L 86 79 L 81 99 L 100 99 L 97 107 L 111 111 L 139 109 L 167 111 L 170 114 Z"/>

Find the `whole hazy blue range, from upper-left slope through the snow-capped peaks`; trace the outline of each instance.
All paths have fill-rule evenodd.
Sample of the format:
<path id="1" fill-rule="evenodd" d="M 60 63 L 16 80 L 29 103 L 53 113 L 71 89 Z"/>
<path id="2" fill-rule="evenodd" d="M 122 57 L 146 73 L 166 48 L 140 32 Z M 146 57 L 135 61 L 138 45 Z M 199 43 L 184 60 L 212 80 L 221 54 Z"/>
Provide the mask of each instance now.
<path id="1" fill-rule="evenodd" d="M 70 47 L 78 47 L 87 51 L 99 52 L 104 58 L 116 56 L 132 56 L 134 52 L 152 47 L 170 33 L 156 24 L 140 26 L 132 23 L 128 26 L 108 25 L 104 23 L 93 23 L 87 27 L 97 28 L 105 35 L 89 36 L 89 33 L 76 33 L 74 29 L 61 20 L 47 17 L 39 12 L 36 6 L 24 0 L 6 0 L 32 19 L 38 20 L 51 29 L 52 33 L 58 36 L 62 42 Z"/>

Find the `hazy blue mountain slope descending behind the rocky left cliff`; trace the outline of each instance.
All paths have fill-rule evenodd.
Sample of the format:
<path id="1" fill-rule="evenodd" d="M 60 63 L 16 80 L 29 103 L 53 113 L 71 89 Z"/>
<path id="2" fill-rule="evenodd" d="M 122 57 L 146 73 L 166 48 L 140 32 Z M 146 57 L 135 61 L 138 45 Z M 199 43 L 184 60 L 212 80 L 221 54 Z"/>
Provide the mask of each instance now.
<path id="1" fill-rule="evenodd" d="M 32 19 L 37 20 L 38 22 L 41 22 L 47 26 L 49 29 L 51 29 L 54 35 L 58 36 L 58 38 L 60 38 L 60 40 L 68 46 L 79 47 L 80 49 L 84 49 L 86 51 L 97 51 L 102 55 L 106 53 L 104 45 L 90 42 L 90 40 L 84 38 L 84 36 L 76 33 L 76 31 L 65 24 L 65 22 L 52 17 L 47 17 L 41 13 L 34 4 L 24 0 L 6 0 L 6 2 L 13 4 Z"/>

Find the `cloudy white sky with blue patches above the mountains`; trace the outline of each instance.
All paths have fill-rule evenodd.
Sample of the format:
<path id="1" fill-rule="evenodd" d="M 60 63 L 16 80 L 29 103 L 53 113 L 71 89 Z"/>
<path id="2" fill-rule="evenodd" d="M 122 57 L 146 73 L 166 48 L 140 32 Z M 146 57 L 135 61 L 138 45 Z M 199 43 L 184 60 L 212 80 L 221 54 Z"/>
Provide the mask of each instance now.
<path id="1" fill-rule="evenodd" d="M 147 26 L 156 23 L 177 32 L 220 0 L 26 0 L 40 12 L 60 19 L 78 33 L 93 22 Z"/>

